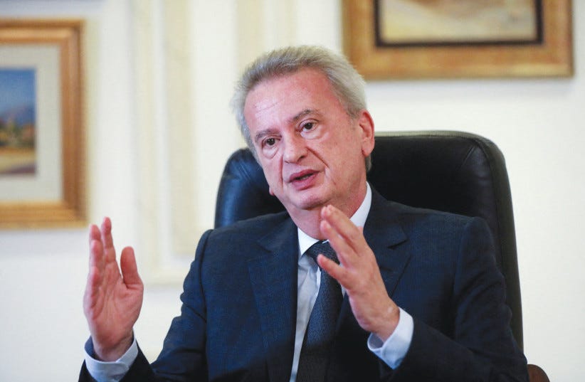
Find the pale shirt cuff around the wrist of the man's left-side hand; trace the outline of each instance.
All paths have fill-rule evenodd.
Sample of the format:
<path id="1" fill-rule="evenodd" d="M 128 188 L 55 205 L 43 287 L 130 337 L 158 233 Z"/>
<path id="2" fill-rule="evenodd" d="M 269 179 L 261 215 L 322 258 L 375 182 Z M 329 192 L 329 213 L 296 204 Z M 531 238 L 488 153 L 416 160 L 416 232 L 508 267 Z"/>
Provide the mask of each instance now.
<path id="1" fill-rule="evenodd" d="M 93 358 L 93 354 L 93 341 L 90 337 L 85 342 L 85 367 L 88 368 L 90 375 L 100 382 L 119 382 L 130 370 L 130 366 L 138 356 L 138 345 L 136 339 L 134 339 L 130 349 L 119 359 L 112 362 L 97 361 L 97 359 Z"/>

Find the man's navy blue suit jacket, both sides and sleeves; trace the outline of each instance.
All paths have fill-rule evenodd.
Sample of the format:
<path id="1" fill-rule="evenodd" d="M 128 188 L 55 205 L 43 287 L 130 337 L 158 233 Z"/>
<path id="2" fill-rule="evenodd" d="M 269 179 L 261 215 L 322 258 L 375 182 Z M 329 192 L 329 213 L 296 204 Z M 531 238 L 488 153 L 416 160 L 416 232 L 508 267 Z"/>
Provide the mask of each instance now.
<path id="1" fill-rule="evenodd" d="M 478 218 L 386 201 L 373 191 L 365 238 L 386 290 L 414 319 L 391 370 L 367 349 L 344 299 L 332 381 L 527 381 L 510 331 L 489 228 Z M 287 213 L 209 230 L 184 281 L 181 316 L 152 365 L 122 381 L 288 382 L 297 308 L 297 227 Z M 90 381 L 85 366 L 80 381 Z"/>

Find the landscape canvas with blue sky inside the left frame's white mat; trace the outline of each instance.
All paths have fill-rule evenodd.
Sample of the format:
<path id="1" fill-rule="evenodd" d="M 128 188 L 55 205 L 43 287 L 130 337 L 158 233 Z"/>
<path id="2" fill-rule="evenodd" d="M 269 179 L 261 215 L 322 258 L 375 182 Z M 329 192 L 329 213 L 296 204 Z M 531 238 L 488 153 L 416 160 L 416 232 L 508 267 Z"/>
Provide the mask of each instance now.
<path id="1" fill-rule="evenodd" d="M 35 174 L 35 70 L 0 69 L 0 176 Z"/>

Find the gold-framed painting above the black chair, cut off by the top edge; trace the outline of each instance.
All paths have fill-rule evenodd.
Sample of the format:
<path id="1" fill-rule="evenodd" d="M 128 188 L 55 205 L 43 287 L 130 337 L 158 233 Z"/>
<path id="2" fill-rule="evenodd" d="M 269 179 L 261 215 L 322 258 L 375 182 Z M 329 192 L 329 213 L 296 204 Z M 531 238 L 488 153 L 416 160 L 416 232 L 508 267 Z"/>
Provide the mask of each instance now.
<path id="1" fill-rule="evenodd" d="M 366 79 L 567 77 L 571 0 L 344 0 Z"/>

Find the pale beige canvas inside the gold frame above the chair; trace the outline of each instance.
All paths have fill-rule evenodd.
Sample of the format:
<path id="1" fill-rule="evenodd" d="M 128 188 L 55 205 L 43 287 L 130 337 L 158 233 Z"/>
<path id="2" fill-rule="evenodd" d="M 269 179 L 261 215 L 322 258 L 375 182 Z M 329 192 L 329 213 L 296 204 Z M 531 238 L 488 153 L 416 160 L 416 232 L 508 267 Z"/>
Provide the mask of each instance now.
<path id="1" fill-rule="evenodd" d="M 540 0 L 379 0 L 380 46 L 538 43 Z"/>

